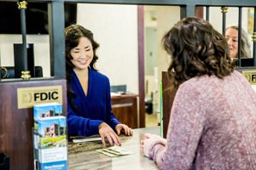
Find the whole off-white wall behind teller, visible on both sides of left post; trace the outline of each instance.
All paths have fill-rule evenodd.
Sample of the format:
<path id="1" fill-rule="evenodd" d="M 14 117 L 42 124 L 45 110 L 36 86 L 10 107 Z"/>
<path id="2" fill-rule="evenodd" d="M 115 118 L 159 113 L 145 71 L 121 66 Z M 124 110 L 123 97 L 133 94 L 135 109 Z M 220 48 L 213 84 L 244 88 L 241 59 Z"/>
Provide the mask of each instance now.
<path id="1" fill-rule="evenodd" d="M 126 84 L 138 94 L 137 5 L 78 4 L 78 23 L 94 32 L 100 43 L 96 67 L 109 77 L 111 85 Z M 49 36 L 27 35 L 34 43 L 35 65 L 42 65 L 49 77 Z M 0 65 L 14 65 L 13 43 L 20 35 L 0 35 Z"/>

